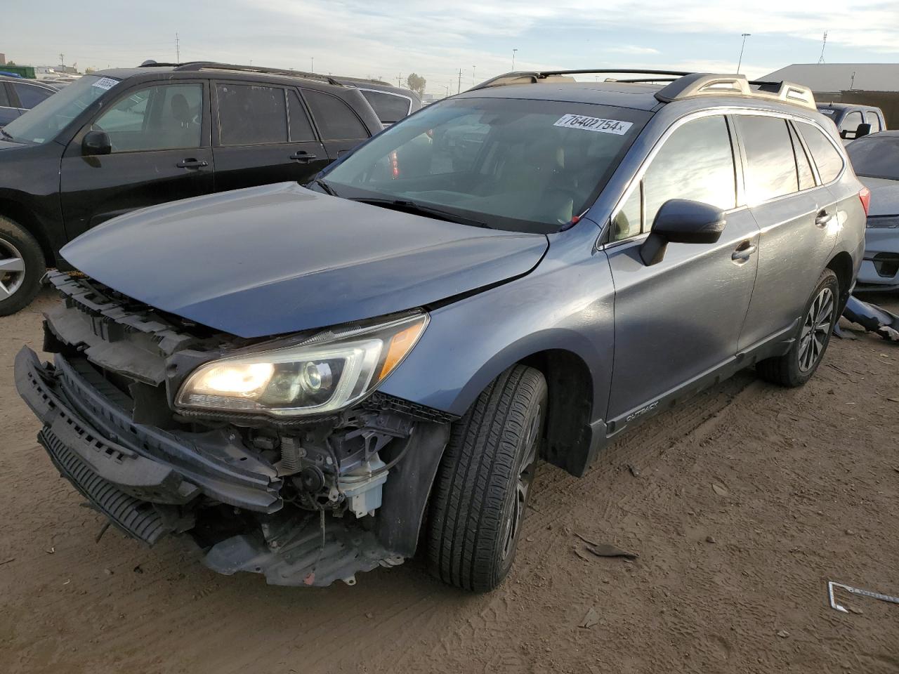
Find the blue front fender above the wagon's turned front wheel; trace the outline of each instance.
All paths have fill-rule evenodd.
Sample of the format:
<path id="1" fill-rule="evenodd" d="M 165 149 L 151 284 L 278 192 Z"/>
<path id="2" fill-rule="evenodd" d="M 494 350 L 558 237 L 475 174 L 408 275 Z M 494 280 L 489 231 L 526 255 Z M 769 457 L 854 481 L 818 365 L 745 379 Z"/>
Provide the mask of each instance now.
<path id="1" fill-rule="evenodd" d="M 583 225 L 583 226 L 582 226 Z M 464 414 L 504 369 L 543 350 L 567 350 L 592 379 L 592 421 L 608 407 L 614 325 L 611 272 L 590 222 L 550 236 L 527 276 L 431 312 L 431 323 L 382 390 Z"/>

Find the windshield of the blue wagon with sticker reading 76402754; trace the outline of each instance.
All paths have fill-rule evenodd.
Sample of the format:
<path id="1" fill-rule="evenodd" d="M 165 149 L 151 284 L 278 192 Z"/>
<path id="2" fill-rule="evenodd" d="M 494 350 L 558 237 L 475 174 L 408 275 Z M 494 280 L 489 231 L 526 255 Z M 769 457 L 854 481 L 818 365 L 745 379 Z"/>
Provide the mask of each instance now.
<path id="1" fill-rule="evenodd" d="M 387 129 L 325 182 L 347 199 L 549 234 L 592 204 L 648 118 L 591 103 L 455 99 Z"/>

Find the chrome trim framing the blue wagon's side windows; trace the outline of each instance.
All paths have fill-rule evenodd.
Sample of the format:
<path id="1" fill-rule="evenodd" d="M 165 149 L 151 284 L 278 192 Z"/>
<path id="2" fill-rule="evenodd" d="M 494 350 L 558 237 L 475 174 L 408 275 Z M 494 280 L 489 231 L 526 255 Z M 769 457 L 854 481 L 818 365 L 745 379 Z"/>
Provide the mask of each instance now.
<path id="1" fill-rule="evenodd" d="M 603 225 L 603 230 L 601 232 L 601 235 L 597 239 L 597 243 L 596 243 L 597 249 L 602 249 L 607 245 L 615 245 L 615 244 L 621 244 L 621 243 L 628 242 L 628 241 L 633 241 L 639 236 L 645 236 L 645 235 L 649 234 L 648 232 L 641 232 L 638 235 L 629 236 L 626 239 L 619 239 L 618 241 L 610 241 L 606 244 L 602 244 L 600 242 L 601 237 L 603 235 L 605 235 L 605 233 L 606 233 L 606 229 L 608 229 L 608 227 L 611 226 L 611 222 L 619 214 L 619 211 L 621 210 L 621 208 L 624 208 L 624 205 L 625 205 L 625 203 L 627 203 L 628 199 L 630 198 L 631 193 L 636 189 L 636 186 L 639 185 L 639 183 L 643 180 L 643 177 L 646 173 L 646 170 L 649 168 L 649 165 L 653 163 L 655 155 L 658 155 L 659 151 L 662 149 L 662 146 L 667 142 L 668 138 L 672 136 L 672 133 L 674 133 L 674 131 L 676 131 L 677 129 L 680 129 L 684 124 L 686 124 L 689 121 L 699 120 L 704 117 L 714 117 L 715 115 L 722 115 L 722 116 L 730 115 L 730 116 L 734 116 L 734 117 L 735 116 L 776 117 L 776 118 L 779 118 L 782 120 L 792 120 L 794 122 L 802 122 L 803 124 L 808 124 L 810 126 L 815 127 L 816 129 L 819 129 L 823 133 L 824 137 L 826 137 L 831 142 L 831 145 L 834 147 L 834 149 L 837 150 L 837 152 L 839 153 L 839 155 L 841 157 L 842 168 L 840 170 L 840 173 L 837 174 L 837 177 L 834 178 L 831 182 L 826 182 L 826 183 L 821 182 L 821 176 L 818 173 L 817 164 L 814 164 L 814 155 L 812 155 L 812 158 L 813 158 L 812 169 L 814 170 L 815 183 L 816 183 L 814 185 L 814 187 L 809 187 L 809 188 L 806 188 L 805 190 L 789 192 L 788 194 L 783 194 L 779 197 L 775 197 L 770 200 L 761 201 L 758 204 L 753 204 L 753 208 L 755 206 L 761 206 L 763 204 L 772 203 L 774 201 L 782 200 L 787 197 L 792 197 L 794 194 L 801 194 L 803 192 L 817 190 L 819 187 L 826 187 L 827 185 L 832 185 L 834 182 L 840 181 L 843 174 L 846 173 L 845 152 L 841 151 L 840 147 L 837 147 L 836 142 L 833 140 L 831 135 L 829 133 L 827 133 L 827 131 L 823 128 L 823 126 L 821 124 L 818 123 L 817 120 L 812 120 L 808 117 L 805 117 L 805 116 L 799 115 L 799 114 L 795 114 L 793 112 L 765 110 L 765 109 L 761 109 L 761 108 L 757 109 L 757 108 L 742 108 L 742 107 L 722 107 L 722 108 L 708 108 L 706 110 L 689 112 L 689 113 L 683 115 L 682 117 L 679 117 L 677 120 L 674 120 L 672 122 L 672 124 L 667 129 L 664 130 L 662 136 L 660 136 L 659 139 L 655 141 L 653 148 L 644 157 L 643 161 L 640 163 L 639 168 L 636 170 L 634 175 L 631 177 L 630 182 L 628 183 L 627 189 L 624 192 L 622 192 L 621 196 L 619 197 L 619 200 L 615 202 L 615 206 L 614 206 L 614 208 L 612 208 L 611 216 L 606 221 L 606 223 Z M 798 129 L 797 129 L 797 131 L 798 131 Z M 800 139 L 805 143 L 805 138 L 801 137 L 801 135 L 800 135 Z M 736 163 L 738 160 L 743 162 L 743 157 L 740 155 L 738 148 L 736 148 L 734 146 L 734 163 Z M 741 172 L 741 173 L 743 173 L 743 172 Z M 741 191 L 738 190 L 737 194 L 738 194 L 738 198 L 739 198 Z M 745 195 L 743 195 L 743 198 L 745 198 Z M 750 208 L 750 206 L 749 206 L 749 204 L 738 204 L 735 208 L 725 210 L 725 214 L 734 213 L 735 211 L 738 211 L 742 208 Z M 642 215 L 641 215 L 641 218 L 642 218 Z"/>

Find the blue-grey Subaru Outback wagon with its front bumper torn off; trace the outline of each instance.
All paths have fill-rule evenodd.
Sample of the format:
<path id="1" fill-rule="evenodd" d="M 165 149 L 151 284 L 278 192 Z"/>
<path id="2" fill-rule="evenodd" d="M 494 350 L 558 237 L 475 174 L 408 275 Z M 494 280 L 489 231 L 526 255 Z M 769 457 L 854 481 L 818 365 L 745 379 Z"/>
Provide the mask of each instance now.
<path id="1" fill-rule="evenodd" d="M 189 534 L 218 572 L 352 584 L 418 553 L 490 590 L 541 459 L 582 475 L 741 368 L 804 384 L 868 208 L 811 92 L 585 72 L 502 75 L 306 187 L 167 203 L 68 244 L 54 362 L 15 365 L 60 473 L 132 537 Z"/>

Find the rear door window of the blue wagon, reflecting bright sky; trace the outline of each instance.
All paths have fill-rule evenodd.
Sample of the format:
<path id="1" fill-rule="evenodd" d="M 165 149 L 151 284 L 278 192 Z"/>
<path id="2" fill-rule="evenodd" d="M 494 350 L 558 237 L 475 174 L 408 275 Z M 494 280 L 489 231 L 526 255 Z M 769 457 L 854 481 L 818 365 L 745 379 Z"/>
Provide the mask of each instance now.
<path id="1" fill-rule="evenodd" d="M 735 118 L 746 151 L 746 200 L 752 206 L 799 188 L 787 120 L 739 115 Z"/>

